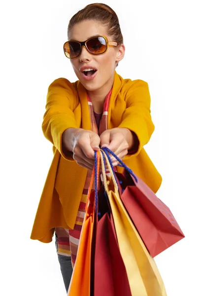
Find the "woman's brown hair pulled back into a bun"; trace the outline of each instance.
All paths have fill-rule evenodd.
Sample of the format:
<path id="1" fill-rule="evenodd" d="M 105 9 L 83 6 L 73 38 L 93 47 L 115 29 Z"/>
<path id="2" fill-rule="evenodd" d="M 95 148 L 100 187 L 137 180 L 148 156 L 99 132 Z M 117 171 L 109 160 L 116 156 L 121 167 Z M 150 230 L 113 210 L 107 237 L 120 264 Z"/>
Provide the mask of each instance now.
<path id="1" fill-rule="evenodd" d="M 69 34 L 69 31 L 75 24 L 85 20 L 95 20 L 102 23 L 107 27 L 107 33 L 109 36 L 113 37 L 113 41 L 123 43 L 123 36 L 121 33 L 118 16 L 108 5 L 103 3 L 92 3 L 79 10 L 70 19 L 67 34 Z"/>

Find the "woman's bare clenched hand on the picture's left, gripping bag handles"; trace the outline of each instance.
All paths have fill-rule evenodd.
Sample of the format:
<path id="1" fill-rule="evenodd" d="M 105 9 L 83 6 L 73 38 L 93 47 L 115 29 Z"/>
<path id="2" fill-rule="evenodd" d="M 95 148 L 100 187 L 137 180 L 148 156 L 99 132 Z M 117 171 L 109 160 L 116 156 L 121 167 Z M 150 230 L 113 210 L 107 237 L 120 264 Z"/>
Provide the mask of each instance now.
<path id="1" fill-rule="evenodd" d="M 76 163 L 86 169 L 93 170 L 95 150 L 99 150 L 99 135 L 82 128 L 68 128 L 62 135 L 63 152 L 73 152 Z"/>

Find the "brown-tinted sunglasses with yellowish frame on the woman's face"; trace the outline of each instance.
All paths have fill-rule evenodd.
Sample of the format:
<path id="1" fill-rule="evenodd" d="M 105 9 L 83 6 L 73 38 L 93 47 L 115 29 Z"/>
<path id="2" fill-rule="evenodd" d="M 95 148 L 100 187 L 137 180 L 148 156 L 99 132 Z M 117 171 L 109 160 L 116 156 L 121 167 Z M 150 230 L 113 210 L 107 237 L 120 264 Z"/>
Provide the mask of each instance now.
<path id="1" fill-rule="evenodd" d="M 118 46 L 117 42 L 108 41 L 107 37 L 97 36 L 89 38 L 84 42 L 79 41 L 66 41 L 64 44 L 64 53 L 68 59 L 77 58 L 80 53 L 82 46 L 92 54 L 103 54 L 107 51 L 109 46 Z"/>

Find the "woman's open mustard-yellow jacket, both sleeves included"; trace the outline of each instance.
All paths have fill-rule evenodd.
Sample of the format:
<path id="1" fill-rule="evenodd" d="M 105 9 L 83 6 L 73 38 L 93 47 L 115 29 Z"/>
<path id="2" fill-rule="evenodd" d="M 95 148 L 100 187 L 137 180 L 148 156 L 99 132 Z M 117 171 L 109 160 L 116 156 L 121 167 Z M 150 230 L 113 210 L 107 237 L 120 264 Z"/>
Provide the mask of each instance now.
<path id="1" fill-rule="evenodd" d="M 108 128 L 124 127 L 135 132 L 139 148 L 127 155 L 124 162 L 154 192 L 162 177 L 143 146 L 154 131 L 150 114 L 150 94 L 147 82 L 123 79 L 116 72 L 108 110 Z M 42 191 L 35 216 L 32 239 L 51 242 L 54 228 L 73 228 L 86 180 L 87 169 L 80 167 L 72 153 L 62 151 L 62 134 L 67 128 L 91 130 L 86 89 L 80 81 L 56 79 L 48 89 L 42 130 L 53 144 L 54 158 Z M 121 172 L 122 168 L 117 167 Z"/>

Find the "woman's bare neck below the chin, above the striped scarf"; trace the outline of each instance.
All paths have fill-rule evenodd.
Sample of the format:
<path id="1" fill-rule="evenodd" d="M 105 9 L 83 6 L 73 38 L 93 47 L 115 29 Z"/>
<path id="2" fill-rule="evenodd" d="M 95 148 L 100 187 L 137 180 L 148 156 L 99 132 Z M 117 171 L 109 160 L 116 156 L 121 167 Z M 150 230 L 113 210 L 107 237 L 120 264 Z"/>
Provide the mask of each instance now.
<path id="1" fill-rule="evenodd" d="M 105 98 L 113 86 L 113 79 L 108 81 L 101 88 L 93 91 L 87 90 L 88 96 L 93 104 L 93 109 L 96 113 L 101 113 L 103 111 L 103 104 Z"/>

